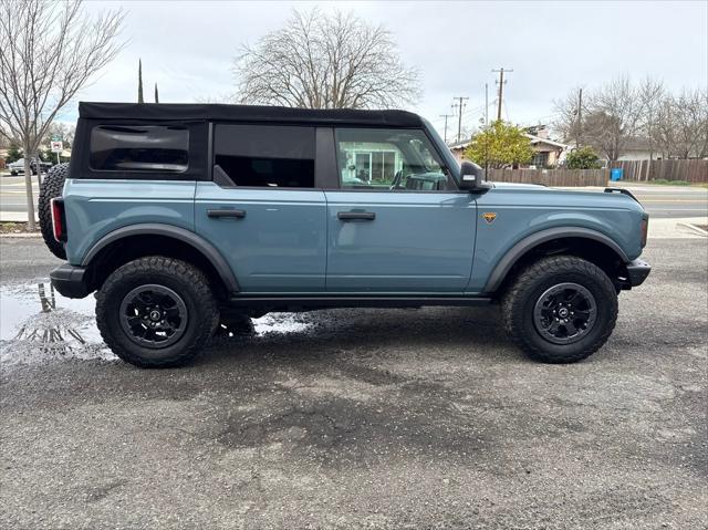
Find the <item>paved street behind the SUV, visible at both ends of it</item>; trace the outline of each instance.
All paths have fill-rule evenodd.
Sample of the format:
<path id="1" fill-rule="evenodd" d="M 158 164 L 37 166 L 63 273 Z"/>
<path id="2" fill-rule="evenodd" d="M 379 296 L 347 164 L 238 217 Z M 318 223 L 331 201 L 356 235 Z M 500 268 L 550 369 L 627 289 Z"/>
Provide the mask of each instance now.
<path id="1" fill-rule="evenodd" d="M 37 178 L 33 179 L 37 181 Z M 687 186 L 637 186 L 635 193 L 652 217 L 708 217 L 708 188 Z M 37 185 L 35 200 L 37 200 Z M 24 177 L 0 177 L 0 212 L 25 212 Z"/>

